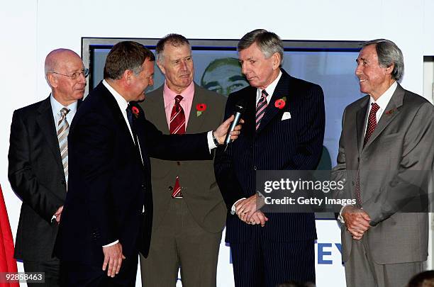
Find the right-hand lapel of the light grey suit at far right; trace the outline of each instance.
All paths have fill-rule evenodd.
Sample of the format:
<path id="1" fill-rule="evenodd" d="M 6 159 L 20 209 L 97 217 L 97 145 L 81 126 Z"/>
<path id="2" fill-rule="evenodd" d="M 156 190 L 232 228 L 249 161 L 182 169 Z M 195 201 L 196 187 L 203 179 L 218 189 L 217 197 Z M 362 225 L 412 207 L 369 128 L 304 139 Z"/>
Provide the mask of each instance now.
<path id="1" fill-rule="evenodd" d="M 366 143 L 365 147 L 368 147 L 371 142 L 373 142 L 386 128 L 391 121 L 399 115 L 399 107 L 402 106 L 402 102 L 404 99 L 405 91 L 401 87 L 400 84 L 396 86 L 396 90 L 391 97 L 389 103 L 386 106 L 386 111 L 383 111 L 382 117 L 380 118 L 379 122 L 377 123 L 377 126 L 374 129 L 374 133 L 372 133 L 371 137 L 369 137 L 368 142 Z"/>

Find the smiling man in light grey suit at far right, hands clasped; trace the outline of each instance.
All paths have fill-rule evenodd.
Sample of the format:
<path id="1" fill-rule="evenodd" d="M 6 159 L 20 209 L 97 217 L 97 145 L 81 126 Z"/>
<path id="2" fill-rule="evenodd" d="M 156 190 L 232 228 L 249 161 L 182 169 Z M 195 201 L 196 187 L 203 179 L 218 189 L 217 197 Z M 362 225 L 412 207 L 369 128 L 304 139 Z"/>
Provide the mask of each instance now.
<path id="1" fill-rule="evenodd" d="M 347 182 L 337 196 L 357 202 L 339 216 L 347 286 L 404 286 L 428 255 L 428 213 L 408 203 L 427 191 L 434 107 L 398 83 L 404 59 L 389 40 L 364 43 L 355 74 L 367 96 L 345 108 L 332 172 Z"/>

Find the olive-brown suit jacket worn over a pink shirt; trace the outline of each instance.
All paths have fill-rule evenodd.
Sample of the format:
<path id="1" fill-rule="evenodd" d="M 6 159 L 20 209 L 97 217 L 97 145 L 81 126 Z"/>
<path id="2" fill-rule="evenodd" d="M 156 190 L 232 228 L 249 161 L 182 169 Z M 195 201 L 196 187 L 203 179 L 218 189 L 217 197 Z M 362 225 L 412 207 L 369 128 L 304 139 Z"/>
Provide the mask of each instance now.
<path id="1" fill-rule="evenodd" d="M 164 85 L 152 91 L 141 103 L 146 116 L 164 134 L 169 134 L 163 99 Z M 196 116 L 196 105 L 206 103 L 206 111 Z M 221 124 L 226 97 L 194 85 L 194 98 L 191 104 L 186 133 L 213 130 Z M 172 187 L 176 176 L 182 186 L 182 195 L 191 215 L 204 230 L 221 232 L 226 221 L 226 205 L 216 184 L 212 160 L 173 162 L 151 159 L 152 199 L 154 203 L 154 223 L 157 228 L 165 217 L 172 201 Z"/>

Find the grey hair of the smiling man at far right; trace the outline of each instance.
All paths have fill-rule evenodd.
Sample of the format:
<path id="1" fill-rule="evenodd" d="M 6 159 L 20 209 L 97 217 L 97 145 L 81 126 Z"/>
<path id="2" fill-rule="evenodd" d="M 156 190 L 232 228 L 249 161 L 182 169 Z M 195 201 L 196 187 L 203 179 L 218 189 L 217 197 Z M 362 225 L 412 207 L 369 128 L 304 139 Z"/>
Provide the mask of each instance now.
<path id="1" fill-rule="evenodd" d="M 404 56 L 401 49 L 391 40 L 375 39 L 362 44 L 362 48 L 369 45 L 375 45 L 377 51 L 378 62 L 381 67 L 390 67 L 394 65 L 391 72 L 392 79 L 399 81 L 404 76 Z"/>

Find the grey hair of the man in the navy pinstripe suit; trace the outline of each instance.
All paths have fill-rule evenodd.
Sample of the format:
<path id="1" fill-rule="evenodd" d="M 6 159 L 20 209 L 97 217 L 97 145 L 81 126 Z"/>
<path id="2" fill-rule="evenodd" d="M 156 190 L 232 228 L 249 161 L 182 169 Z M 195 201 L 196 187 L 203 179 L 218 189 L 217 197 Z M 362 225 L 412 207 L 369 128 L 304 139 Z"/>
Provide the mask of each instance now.
<path id="1" fill-rule="evenodd" d="M 240 42 L 238 42 L 238 52 L 247 49 L 253 43 L 256 43 L 256 45 L 260 48 L 262 54 L 264 54 L 266 59 L 274 55 L 274 53 L 279 53 L 279 66 L 282 67 L 284 47 L 282 40 L 279 38 L 278 35 L 272 32 L 268 32 L 265 29 L 252 30 L 249 33 L 245 34 L 243 38 L 241 38 Z"/>

